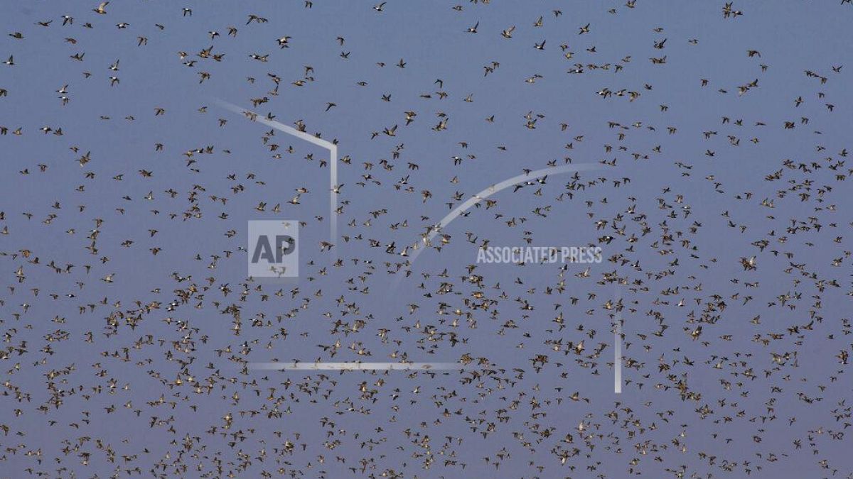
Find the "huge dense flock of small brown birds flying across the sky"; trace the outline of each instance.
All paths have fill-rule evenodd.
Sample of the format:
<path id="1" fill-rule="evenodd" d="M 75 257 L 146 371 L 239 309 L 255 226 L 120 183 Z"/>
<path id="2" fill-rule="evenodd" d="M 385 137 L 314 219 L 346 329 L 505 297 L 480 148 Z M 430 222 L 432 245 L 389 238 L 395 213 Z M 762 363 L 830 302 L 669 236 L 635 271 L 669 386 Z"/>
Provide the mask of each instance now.
<path id="1" fill-rule="evenodd" d="M 635 12 L 654 8 L 643 3 L 628 0 L 606 13 L 642 23 Z M 395 26 L 383 23 L 383 15 L 408 7 L 382 2 L 370 12 L 370 5 L 348 6 L 378 15 L 377 25 L 389 35 Z M 276 12 L 222 18 L 212 4 L 168 5 L 154 23 L 119 18 L 128 8 L 103 2 L 31 23 L 2 22 L 11 31 L 0 44 L 9 50 L 0 68 L 0 141 L 4 151 L 18 153 L 3 161 L 0 212 L 0 475 L 680 479 L 797 465 L 809 468 L 808 476 L 850 477 L 848 454 L 838 451 L 851 424 L 844 373 L 851 352 L 853 170 L 845 139 L 814 130 L 844 121 L 833 116 L 836 107 L 845 110 L 844 98 L 831 89 L 844 82 L 843 66 L 802 69 L 797 61 L 803 59 L 794 58 L 771 65 L 772 55 L 745 45 L 727 52 L 750 62 L 737 72 L 744 81 L 728 84 L 715 80 L 724 77 L 718 72 L 690 78 L 689 66 L 679 70 L 686 55 L 701 55 L 690 49 L 701 51 L 704 39 L 676 38 L 664 26 L 642 25 L 654 36 L 646 44 L 616 42 L 599 51 L 595 43 L 606 43 L 620 26 L 578 21 L 567 6 L 542 14 L 531 6 L 530 18 L 505 25 L 478 18 L 497 8 L 488 0 L 449 12 L 430 7 L 449 19 L 439 37 L 459 48 L 468 36 L 490 36 L 488 49 L 472 53 L 488 56 L 485 66 L 469 65 L 484 84 L 515 81 L 532 89 L 556 81 L 541 72 L 514 78 L 512 55 L 501 57 L 533 36 L 524 55 L 556 62 L 566 85 L 578 75 L 606 84 L 575 89 L 575 95 L 624 98 L 627 107 L 645 108 L 632 114 L 647 115 L 602 124 L 554 121 L 564 113 L 505 111 L 500 102 L 480 106 L 477 95 L 456 90 L 463 81 L 433 79 L 428 71 L 421 72 L 428 79 L 406 80 L 424 85 L 425 93 L 396 94 L 403 82 L 397 75 L 417 69 L 418 61 L 374 61 L 363 42 L 351 46 L 344 34 L 332 34 L 326 44 L 281 34 L 288 20 Z M 306 0 L 304 8 L 311 19 L 310 11 L 322 6 Z M 733 2 L 720 8 L 707 21 L 741 32 L 755 21 Z M 206 16 L 199 15 L 203 9 Z M 323 20 L 313 21 L 317 32 L 328 30 Z M 171 37 L 178 29 L 182 36 Z M 236 50 L 237 38 L 258 39 L 270 50 Z M 114 45 L 124 49 L 124 59 L 92 60 Z M 632 55 L 610 58 L 629 46 L 647 52 L 646 66 Z M 153 61 L 134 49 L 168 50 L 177 58 Z M 341 176 L 351 183 L 332 188 L 340 198 L 342 234 L 304 244 L 304 277 L 297 286 L 282 286 L 235 273 L 245 271 L 241 228 L 247 218 L 297 217 L 306 232 L 322 230 L 328 218 L 312 216 L 305 199 L 324 198 L 325 188 L 263 176 L 246 161 L 235 162 L 229 147 L 160 140 L 157 122 L 184 110 L 215 129 L 222 143 L 240 141 L 229 127 L 247 122 L 227 114 L 210 119 L 212 109 L 182 98 L 148 105 L 156 92 L 130 86 L 133 79 L 123 73 L 131 66 L 136 74 L 172 75 L 177 62 L 171 81 L 182 91 L 198 89 L 202 97 L 206 82 L 240 84 L 241 95 L 252 92 L 241 101 L 271 107 L 279 95 L 316 96 L 322 87 L 315 82 L 339 76 L 328 66 L 294 66 L 287 55 L 297 49 L 340 50 L 339 68 L 360 62 L 372 72 L 353 82 L 351 95 L 319 101 L 310 112 L 317 123 L 357 101 L 396 113 L 384 124 L 356 122 L 352 130 L 363 136 L 346 143 L 386 141 L 378 147 L 386 153 L 358 164 L 351 156 L 362 154 L 354 146 L 340 160 Z M 55 65 L 49 72 L 38 70 L 49 61 Z M 246 62 L 264 64 L 268 72 L 246 78 Z M 679 125 L 676 118 L 683 121 L 684 110 L 693 108 L 680 105 L 682 98 L 644 103 L 665 101 L 665 87 L 655 84 L 664 76 L 640 78 L 640 72 L 667 72 L 682 77 L 701 101 L 731 106 L 748 96 L 769 97 L 763 85 L 774 82 L 774 73 L 797 68 L 804 71 L 794 85 L 798 93 L 773 110 L 784 117 L 732 107 L 722 118 L 693 121 L 705 124 L 699 130 Z M 43 84 L 37 77 L 45 75 L 55 91 L 36 91 Z M 52 105 L 73 111 L 73 123 L 47 123 L 44 115 L 10 107 L 23 109 L 41 95 L 55 95 Z M 117 108 L 132 113 L 121 119 L 100 113 L 115 95 L 131 99 Z M 682 116 L 670 119 L 670 108 Z M 423 124 L 431 110 L 435 119 Z M 467 118 L 463 112 L 470 111 L 479 114 L 477 124 L 450 122 L 447 113 Z M 492 129 L 506 122 L 520 138 L 548 130 L 551 136 L 539 138 L 563 152 L 560 159 L 519 164 L 508 176 L 581 155 L 598 159 L 599 169 L 519 182 L 427 241 L 438 218 L 484 186 L 481 172 L 499 168 L 487 162 L 512 164 L 517 159 L 510 155 L 530 147 L 520 141 L 514 150 L 512 139 L 499 133 L 468 137 L 484 120 Z M 125 126 L 111 126 L 117 123 Z M 293 125 L 310 131 L 303 119 Z M 119 128 L 149 141 L 150 150 L 112 141 Z M 92 138 L 80 130 L 104 133 Z M 415 136 L 451 138 L 455 153 L 434 158 L 392 144 Z M 601 142 L 591 145 L 589 138 Z M 328 169 L 328 159 L 299 158 L 301 147 L 289 141 L 264 131 L 251 154 L 262 152 L 271 164 Z M 672 141 L 688 142 L 692 153 L 671 155 Z M 786 141 L 810 153 L 779 156 L 773 144 Z M 64 153 L 38 153 L 45 144 Z M 775 156 L 732 167 L 766 154 L 762 147 Z M 166 166 L 170 159 L 183 163 Z M 217 168 L 225 169 L 221 176 Z M 645 172 L 651 169 L 658 178 Z M 292 198 L 279 198 L 281 182 L 299 183 L 287 194 Z M 453 248 L 475 251 L 508 238 L 537 245 L 554 218 L 571 214 L 566 211 L 593 232 L 588 240 L 604 248 L 604 263 L 490 268 L 474 263 L 473 254 L 467 263 L 442 260 Z M 188 245 L 200 225 L 218 231 L 228 247 Z M 411 263 L 419 248 L 432 259 Z M 339 257 L 329 260 L 333 250 Z M 401 286 L 389 291 L 390 279 L 401 276 Z M 614 288 L 622 299 L 613 299 Z M 398 310 L 395 296 L 411 299 Z M 596 395 L 595 384 L 612 370 L 607 332 L 617 315 L 626 321 L 625 393 Z M 314 356 L 289 355 L 300 347 Z M 270 359 L 450 359 L 477 367 L 339 373 L 248 367 Z"/>

